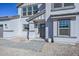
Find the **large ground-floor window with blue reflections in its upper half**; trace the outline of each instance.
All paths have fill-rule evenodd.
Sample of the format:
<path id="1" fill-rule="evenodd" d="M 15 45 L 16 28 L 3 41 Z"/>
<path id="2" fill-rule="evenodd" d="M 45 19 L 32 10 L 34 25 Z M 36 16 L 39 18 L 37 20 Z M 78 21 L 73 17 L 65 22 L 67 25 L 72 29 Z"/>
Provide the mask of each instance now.
<path id="1" fill-rule="evenodd" d="M 59 20 L 59 35 L 70 36 L 70 19 Z"/>

